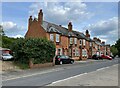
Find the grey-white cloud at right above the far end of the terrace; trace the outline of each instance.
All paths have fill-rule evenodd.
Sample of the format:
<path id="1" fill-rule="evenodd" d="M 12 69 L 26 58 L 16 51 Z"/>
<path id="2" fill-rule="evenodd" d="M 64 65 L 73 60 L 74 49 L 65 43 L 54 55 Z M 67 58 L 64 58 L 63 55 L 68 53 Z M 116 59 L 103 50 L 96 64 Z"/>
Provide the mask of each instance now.
<path id="1" fill-rule="evenodd" d="M 108 20 L 101 20 L 96 24 L 91 24 L 87 27 L 92 36 L 97 36 L 107 43 L 115 43 L 118 39 L 118 17 L 113 17 Z"/>

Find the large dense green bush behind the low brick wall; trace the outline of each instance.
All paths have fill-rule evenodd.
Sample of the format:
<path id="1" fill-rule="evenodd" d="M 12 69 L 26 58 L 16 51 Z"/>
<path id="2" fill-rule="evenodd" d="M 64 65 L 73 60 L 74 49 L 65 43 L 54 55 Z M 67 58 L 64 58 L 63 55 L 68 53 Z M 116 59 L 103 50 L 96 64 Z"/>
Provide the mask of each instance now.
<path id="1" fill-rule="evenodd" d="M 29 59 L 36 64 L 52 62 L 55 55 L 55 45 L 45 38 L 20 38 L 13 43 L 11 50 L 14 61 L 20 64 L 28 64 Z"/>

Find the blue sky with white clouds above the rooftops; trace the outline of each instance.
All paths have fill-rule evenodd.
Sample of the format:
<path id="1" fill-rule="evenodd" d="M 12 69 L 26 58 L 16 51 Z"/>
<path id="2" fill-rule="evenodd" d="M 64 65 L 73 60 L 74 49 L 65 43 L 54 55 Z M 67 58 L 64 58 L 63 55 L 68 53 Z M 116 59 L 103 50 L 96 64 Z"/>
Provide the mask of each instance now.
<path id="1" fill-rule="evenodd" d="M 43 10 L 44 20 L 67 27 L 72 22 L 73 30 L 98 37 L 106 44 L 118 39 L 117 2 L 2 2 L 4 32 L 9 37 L 24 37 L 28 30 L 30 15 L 37 18 Z"/>

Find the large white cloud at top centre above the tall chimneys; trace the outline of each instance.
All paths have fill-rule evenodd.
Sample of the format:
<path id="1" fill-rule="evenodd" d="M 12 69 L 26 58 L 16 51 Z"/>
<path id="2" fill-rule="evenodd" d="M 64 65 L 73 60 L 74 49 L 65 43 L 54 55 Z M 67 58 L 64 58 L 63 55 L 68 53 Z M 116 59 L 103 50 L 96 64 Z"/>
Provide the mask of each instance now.
<path id="1" fill-rule="evenodd" d="M 37 17 L 40 9 L 43 9 L 45 20 L 61 25 L 66 25 L 69 21 L 82 22 L 93 16 L 82 2 L 48 2 L 47 5 L 34 3 L 30 6 L 29 15 Z"/>

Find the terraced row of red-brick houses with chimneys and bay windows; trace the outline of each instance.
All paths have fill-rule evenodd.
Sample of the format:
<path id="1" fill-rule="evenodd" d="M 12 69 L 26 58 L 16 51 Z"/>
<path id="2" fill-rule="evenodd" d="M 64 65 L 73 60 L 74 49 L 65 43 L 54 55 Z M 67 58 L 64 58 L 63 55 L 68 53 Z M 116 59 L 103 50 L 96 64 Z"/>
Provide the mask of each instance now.
<path id="1" fill-rule="evenodd" d="M 65 28 L 43 20 L 40 10 L 38 18 L 29 17 L 28 31 L 25 38 L 47 38 L 56 45 L 56 55 L 68 55 L 75 60 L 86 60 L 94 54 L 110 55 L 110 45 L 105 45 L 99 38 L 90 38 L 89 31 L 85 34 L 73 30 L 72 22 Z"/>

